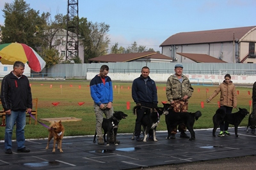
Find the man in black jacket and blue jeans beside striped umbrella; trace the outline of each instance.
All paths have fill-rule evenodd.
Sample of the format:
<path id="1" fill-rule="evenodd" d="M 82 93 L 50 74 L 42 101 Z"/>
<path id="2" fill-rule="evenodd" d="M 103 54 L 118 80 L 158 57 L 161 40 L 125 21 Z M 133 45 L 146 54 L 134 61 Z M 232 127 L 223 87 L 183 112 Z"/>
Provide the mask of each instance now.
<path id="1" fill-rule="evenodd" d="M 12 132 L 16 124 L 16 141 L 18 152 L 30 152 L 24 146 L 24 127 L 26 125 L 26 110 L 31 113 L 32 95 L 29 80 L 23 75 L 25 65 L 16 61 L 13 71 L 4 76 L 1 85 L 1 102 L 6 113 L 4 148 L 6 154 L 12 154 Z"/>

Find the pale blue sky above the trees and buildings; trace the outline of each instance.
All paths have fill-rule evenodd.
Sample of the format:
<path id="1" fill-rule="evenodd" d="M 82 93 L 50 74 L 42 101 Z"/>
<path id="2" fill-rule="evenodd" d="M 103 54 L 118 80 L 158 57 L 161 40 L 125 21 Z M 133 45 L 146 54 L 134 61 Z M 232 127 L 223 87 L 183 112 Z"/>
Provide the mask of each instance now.
<path id="1" fill-rule="evenodd" d="M 0 1 L 0 24 L 4 3 Z M 26 0 L 30 8 L 67 14 L 68 0 Z M 256 26 L 256 0 L 79 0 L 79 17 L 110 25 L 111 46 L 138 45 L 159 50 L 179 32 Z"/>

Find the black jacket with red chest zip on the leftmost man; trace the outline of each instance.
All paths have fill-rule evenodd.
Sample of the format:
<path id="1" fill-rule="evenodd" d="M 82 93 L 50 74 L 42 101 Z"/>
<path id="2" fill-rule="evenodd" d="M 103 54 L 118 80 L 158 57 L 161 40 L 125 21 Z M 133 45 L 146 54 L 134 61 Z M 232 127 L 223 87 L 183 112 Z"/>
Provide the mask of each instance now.
<path id="1" fill-rule="evenodd" d="M 13 73 L 4 76 L 1 85 L 1 102 L 4 110 L 32 109 L 32 95 L 27 76 L 17 78 Z"/>

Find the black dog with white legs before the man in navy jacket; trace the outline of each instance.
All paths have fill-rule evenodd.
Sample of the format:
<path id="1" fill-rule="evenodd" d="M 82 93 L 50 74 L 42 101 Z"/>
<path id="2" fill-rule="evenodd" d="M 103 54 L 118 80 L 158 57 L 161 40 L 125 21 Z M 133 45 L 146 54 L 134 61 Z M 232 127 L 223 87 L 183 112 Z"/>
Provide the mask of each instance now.
<path id="1" fill-rule="evenodd" d="M 133 108 L 134 115 L 136 114 L 136 109 L 143 106 L 135 106 Z M 155 110 L 156 109 L 156 110 Z M 146 108 L 146 111 L 144 113 L 144 116 L 141 120 L 141 125 L 143 127 L 143 135 L 144 139 L 143 142 L 147 142 L 147 136 L 150 129 L 153 130 L 153 137 L 154 141 L 157 141 L 156 139 L 156 127 L 159 124 L 160 116 L 163 115 L 163 108 Z M 132 140 L 134 139 L 135 132 L 132 134 Z"/>

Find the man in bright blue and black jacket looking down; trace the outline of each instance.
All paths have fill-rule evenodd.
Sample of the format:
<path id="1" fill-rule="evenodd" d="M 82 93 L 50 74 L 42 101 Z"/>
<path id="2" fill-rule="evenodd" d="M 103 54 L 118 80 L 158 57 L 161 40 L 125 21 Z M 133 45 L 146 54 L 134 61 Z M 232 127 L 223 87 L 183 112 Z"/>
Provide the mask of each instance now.
<path id="1" fill-rule="evenodd" d="M 91 96 L 94 101 L 94 111 L 96 116 L 98 145 L 104 145 L 102 136 L 103 113 L 106 115 L 106 118 L 111 118 L 114 112 L 112 106 L 113 87 L 111 78 L 108 76 L 108 71 L 109 67 L 107 65 L 102 65 L 100 67 L 100 73 L 90 81 Z M 109 142 L 114 142 L 113 133 L 109 136 Z M 116 140 L 116 143 L 120 143 L 120 141 Z"/>

